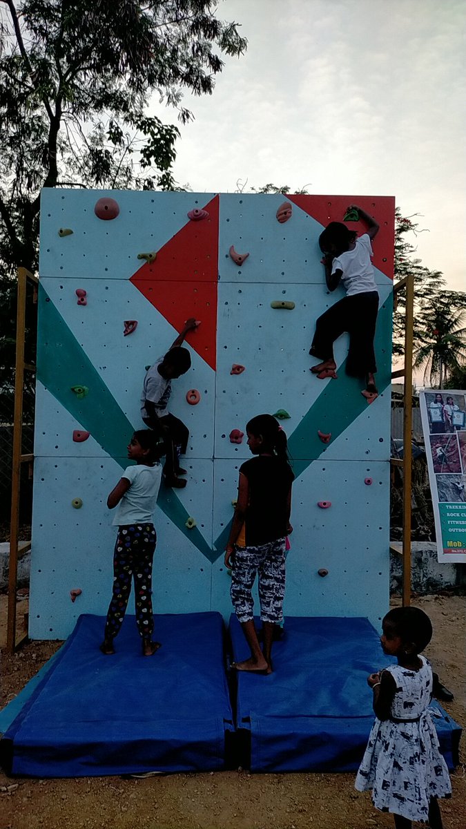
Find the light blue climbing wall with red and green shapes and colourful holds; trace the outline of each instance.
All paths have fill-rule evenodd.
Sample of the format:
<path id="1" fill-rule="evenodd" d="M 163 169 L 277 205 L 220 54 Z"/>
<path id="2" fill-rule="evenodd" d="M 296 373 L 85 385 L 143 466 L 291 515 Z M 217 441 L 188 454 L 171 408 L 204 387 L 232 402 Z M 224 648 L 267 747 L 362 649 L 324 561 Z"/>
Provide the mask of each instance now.
<path id="1" fill-rule="evenodd" d="M 106 612 L 115 535 L 106 499 L 128 465 L 133 429 L 143 428 L 145 366 L 188 317 L 201 321 L 186 342 L 192 369 L 173 382 L 170 402 L 191 432 L 188 482 L 158 499 L 155 612 L 231 612 L 223 553 L 250 453 L 230 435 L 279 410 L 289 414 L 280 423 L 296 474 L 285 613 L 377 624 L 386 610 L 394 199 L 287 202 L 282 210 L 284 196 L 42 192 L 32 638 L 65 638 L 80 613 Z M 371 405 L 345 374 L 346 335 L 337 380 L 309 371 L 315 320 L 342 296 L 325 286 L 318 235 L 353 202 L 381 224 L 381 394 Z M 80 591 L 75 601 L 70 591 Z"/>

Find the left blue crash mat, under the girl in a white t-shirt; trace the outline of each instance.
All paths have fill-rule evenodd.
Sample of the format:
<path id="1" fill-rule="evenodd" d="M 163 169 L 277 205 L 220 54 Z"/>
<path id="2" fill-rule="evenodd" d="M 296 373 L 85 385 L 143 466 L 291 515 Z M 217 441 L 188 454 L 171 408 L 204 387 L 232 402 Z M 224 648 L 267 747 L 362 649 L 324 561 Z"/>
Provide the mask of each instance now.
<path id="1" fill-rule="evenodd" d="M 103 631 L 104 618 L 80 616 L 0 742 L 5 768 L 41 778 L 224 768 L 233 716 L 221 614 L 156 616 L 153 657 L 133 616 L 114 656 L 99 651 Z"/>

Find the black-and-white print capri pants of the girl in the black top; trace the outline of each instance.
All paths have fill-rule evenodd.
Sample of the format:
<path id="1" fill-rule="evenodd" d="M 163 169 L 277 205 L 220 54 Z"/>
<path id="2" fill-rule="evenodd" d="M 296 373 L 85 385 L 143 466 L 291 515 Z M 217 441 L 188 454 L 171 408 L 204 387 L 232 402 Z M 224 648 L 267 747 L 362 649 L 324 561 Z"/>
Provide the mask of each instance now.
<path id="1" fill-rule="evenodd" d="M 283 621 L 285 539 L 258 547 L 236 547 L 231 570 L 231 601 L 238 620 L 254 618 L 251 590 L 259 574 L 260 618 L 263 622 Z"/>

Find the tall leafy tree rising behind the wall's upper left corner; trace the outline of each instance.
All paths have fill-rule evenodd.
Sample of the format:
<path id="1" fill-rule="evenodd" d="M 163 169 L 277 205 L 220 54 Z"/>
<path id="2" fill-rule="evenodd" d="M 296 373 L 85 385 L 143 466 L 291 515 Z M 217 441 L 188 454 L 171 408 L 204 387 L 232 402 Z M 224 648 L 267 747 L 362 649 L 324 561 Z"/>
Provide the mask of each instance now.
<path id="1" fill-rule="evenodd" d="M 36 267 L 41 187 L 173 189 L 179 131 L 220 55 L 246 47 L 216 0 L 0 0 L 0 262 Z"/>

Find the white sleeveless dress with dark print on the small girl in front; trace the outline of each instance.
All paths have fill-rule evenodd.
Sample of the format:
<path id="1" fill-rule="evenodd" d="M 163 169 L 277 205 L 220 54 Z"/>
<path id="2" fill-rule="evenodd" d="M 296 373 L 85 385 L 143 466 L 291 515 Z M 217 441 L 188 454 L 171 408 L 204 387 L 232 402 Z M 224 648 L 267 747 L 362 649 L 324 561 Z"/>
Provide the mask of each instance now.
<path id="1" fill-rule="evenodd" d="M 400 665 L 385 669 L 396 681 L 391 719 L 372 725 L 355 788 L 372 789 L 372 802 L 382 812 L 427 822 L 430 798 L 449 796 L 451 783 L 427 710 L 432 670 L 425 657 L 420 660 L 419 671 Z"/>

